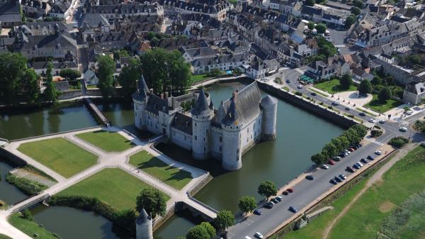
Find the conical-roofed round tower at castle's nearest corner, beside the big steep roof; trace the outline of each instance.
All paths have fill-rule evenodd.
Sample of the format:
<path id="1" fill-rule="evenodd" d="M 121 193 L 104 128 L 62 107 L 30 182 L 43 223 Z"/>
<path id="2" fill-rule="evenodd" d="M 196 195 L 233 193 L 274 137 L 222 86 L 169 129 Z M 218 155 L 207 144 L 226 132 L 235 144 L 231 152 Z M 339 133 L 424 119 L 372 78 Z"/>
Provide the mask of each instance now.
<path id="1" fill-rule="evenodd" d="M 223 152 L 222 167 L 226 170 L 237 170 L 242 167 L 241 130 L 237 111 L 237 92 L 230 99 L 229 109 L 222 120 Z"/>

